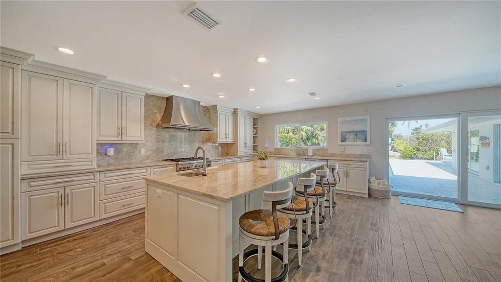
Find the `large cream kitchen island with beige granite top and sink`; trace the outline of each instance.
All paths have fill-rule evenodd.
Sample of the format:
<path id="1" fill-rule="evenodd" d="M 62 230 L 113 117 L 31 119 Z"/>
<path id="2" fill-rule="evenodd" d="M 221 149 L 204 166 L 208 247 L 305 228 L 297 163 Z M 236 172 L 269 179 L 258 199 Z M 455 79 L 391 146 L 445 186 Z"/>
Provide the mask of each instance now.
<path id="1" fill-rule="evenodd" d="M 232 279 L 238 254 L 238 218 L 261 208 L 264 191 L 280 191 L 325 163 L 269 160 L 146 176 L 145 249 L 182 281 Z"/>

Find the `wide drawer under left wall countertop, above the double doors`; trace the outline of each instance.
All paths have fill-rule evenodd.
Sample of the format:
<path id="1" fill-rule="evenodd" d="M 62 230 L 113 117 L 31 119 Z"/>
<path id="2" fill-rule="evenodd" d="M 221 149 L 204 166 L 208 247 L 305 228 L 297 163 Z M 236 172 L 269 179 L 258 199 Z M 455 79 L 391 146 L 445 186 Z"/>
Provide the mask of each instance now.
<path id="1" fill-rule="evenodd" d="M 80 185 L 99 182 L 99 173 L 73 174 L 65 176 L 43 177 L 21 180 L 21 192 L 38 191 L 65 187 L 69 185 Z"/>

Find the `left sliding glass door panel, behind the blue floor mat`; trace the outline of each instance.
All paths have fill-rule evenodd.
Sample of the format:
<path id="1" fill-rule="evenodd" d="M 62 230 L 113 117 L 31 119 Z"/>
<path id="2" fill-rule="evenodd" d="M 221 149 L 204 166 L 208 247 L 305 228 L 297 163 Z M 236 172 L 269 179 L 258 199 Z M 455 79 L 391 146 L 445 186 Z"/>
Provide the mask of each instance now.
<path id="1" fill-rule="evenodd" d="M 457 202 L 458 115 L 387 122 L 392 194 Z"/>

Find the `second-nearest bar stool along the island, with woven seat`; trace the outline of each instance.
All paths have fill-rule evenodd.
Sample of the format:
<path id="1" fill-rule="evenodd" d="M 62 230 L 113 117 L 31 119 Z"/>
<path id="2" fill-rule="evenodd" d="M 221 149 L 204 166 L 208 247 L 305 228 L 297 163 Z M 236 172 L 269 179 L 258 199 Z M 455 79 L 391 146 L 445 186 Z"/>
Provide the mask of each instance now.
<path id="1" fill-rule="evenodd" d="M 312 244 L 312 231 L 311 231 L 311 219 L 313 214 L 314 203 L 310 201 L 307 196 L 305 196 L 309 191 L 315 189 L 315 181 L 317 176 L 313 173 L 310 178 L 299 178 L 298 185 L 296 189 L 302 190 L 304 193 L 302 196 L 293 196 L 292 203 L 287 207 L 279 210 L 279 212 L 285 214 L 289 219 L 296 219 L 293 227 L 290 230 L 296 230 L 297 232 L 297 244 L 289 244 L 290 249 L 298 250 L 298 261 L 299 265 L 302 265 L 303 260 L 303 249 L 309 248 Z M 292 187 L 292 183 L 289 182 L 289 186 Z M 306 219 L 306 229 L 303 230 L 303 220 Z M 303 234 L 307 236 L 306 241 L 303 243 Z"/>

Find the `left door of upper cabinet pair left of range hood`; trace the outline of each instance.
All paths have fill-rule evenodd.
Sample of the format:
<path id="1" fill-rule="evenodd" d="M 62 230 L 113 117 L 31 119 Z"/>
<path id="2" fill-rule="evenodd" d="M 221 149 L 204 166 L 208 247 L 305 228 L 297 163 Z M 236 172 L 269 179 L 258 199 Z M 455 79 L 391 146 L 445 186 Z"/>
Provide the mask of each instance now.
<path id="1" fill-rule="evenodd" d="M 122 140 L 122 92 L 97 88 L 97 139 Z"/>

